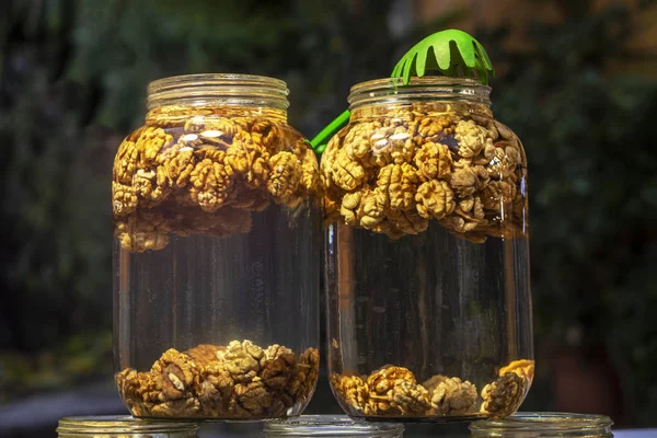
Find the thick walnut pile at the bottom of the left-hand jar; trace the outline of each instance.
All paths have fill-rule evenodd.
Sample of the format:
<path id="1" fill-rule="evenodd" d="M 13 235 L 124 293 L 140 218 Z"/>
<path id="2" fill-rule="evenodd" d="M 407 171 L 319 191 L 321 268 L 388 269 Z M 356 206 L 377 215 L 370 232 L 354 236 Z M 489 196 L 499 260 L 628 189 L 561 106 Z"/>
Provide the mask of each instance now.
<path id="1" fill-rule="evenodd" d="M 137 417 L 262 419 L 298 414 L 318 381 L 319 353 L 297 356 L 280 345 L 250 341 L 227 347 L 166 350 L 150 371 L 116 374 L 124 402 Z"/>

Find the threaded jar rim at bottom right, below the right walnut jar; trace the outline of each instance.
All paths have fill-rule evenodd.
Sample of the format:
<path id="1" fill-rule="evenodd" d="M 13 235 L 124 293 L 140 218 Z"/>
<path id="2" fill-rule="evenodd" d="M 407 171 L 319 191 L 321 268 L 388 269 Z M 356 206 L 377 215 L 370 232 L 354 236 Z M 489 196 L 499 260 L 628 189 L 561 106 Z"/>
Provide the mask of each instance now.
<path id="1" fill-rule="evenodd" d="M 570 414 L 564 412 L 519 412 L 506 418 L 493 418 L 470 424 L 472 431 L 567 431 L 600 430 L 613 425 L 610 417 L 596 414 Z"/>

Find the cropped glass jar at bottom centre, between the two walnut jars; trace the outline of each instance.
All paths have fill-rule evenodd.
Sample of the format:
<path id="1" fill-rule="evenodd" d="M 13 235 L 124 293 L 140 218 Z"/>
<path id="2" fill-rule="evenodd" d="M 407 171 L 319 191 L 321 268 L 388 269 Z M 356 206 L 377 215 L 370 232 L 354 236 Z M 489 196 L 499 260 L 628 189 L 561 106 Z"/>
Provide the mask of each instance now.
<path id="1" fill-rule="evenodd" d="M 404 426 L 390 423 L 355 422 L 344 415 L 302 415 L 287 420 L 265 424 L 265 437 L 323 437 L 323 438 L 402 438 Z"/>

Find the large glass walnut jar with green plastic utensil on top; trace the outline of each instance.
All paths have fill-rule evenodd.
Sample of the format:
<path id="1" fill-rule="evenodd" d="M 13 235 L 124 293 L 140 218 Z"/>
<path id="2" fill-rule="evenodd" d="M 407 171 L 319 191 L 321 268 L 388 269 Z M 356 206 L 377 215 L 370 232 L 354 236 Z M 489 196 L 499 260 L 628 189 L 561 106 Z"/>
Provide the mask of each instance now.
<path id="1" fill-rule="evenodd" d="M 531 385 L 527 161 L 489 92 L 357 84 L 322 157 L 328 371 L 353 417 L 507 416 Z"/>

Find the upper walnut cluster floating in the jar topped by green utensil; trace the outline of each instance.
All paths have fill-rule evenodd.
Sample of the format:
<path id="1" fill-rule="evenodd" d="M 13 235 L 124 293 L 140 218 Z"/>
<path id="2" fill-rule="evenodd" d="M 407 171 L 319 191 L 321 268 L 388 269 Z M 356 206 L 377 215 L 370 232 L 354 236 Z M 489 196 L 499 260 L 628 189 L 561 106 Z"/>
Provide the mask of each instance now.
<path id="1" fill-rule="evenodd" d="M 463 103 L 356 110 L 321 163 L 325 220 L 418 234 L 438 220 L 483 242 L 526 232 L 525 155 L 489 113 Z"/>

